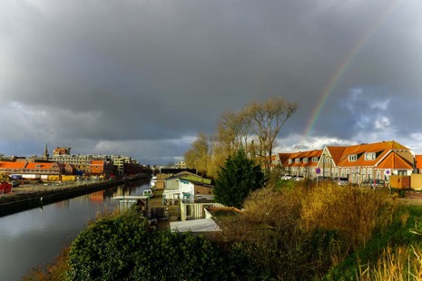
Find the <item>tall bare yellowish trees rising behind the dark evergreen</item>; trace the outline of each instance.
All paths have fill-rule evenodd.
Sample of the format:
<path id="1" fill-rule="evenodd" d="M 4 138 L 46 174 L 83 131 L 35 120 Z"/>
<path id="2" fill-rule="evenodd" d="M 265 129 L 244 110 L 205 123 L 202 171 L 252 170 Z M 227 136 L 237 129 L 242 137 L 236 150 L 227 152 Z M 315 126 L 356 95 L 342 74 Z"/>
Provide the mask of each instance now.
<path id="1" fill-rule="evenodd" d="M 221 163 L 242 148 L 250 159 L 270 170 L 281 127 L 297 110 L 296 102 L 270 97 L 264 102 L 250 102 L 237 112 L 223 112 L 216 131 L 211 135 L 198 133 L 184 153 L 186 165 L 215 179 Z"/>

